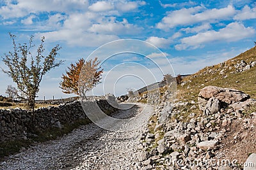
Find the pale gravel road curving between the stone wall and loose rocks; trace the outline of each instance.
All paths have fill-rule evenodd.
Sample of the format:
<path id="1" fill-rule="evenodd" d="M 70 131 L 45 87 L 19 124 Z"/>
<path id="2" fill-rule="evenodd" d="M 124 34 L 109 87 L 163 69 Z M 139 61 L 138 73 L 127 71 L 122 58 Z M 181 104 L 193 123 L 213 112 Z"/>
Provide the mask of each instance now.
<path id="1" fill-rule="evenodd" d="M 141 110 L 152 113 L 145 104 L 120 110 L 115 118 L 131 118 Z M 145 123 L 147 121 L 145 120 Z M 0 169 L 140 169 L 136 160 L 139 136 L 145 126 L 128 132 L 112 132 L 88 124 L 63 138 L 31 146 L 0 162 Z"/>

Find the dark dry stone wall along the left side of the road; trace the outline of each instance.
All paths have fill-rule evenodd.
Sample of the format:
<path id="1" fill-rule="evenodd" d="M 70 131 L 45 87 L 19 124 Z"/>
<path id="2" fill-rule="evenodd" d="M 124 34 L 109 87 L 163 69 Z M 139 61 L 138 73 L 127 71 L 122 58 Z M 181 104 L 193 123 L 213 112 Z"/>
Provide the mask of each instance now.
<path id="1" fill-rule="evenodd" d="M 106 96 L 105 98 L 95 99 L 93 102 L 97 103 L 104 113 L 109 114 L 116 111 L 113 106 L 115 97 Z M 83 118 L 87 117 L 80 101 L 60 104 L 56 107 L 39 108 L 35 110 L 35 113 L 19 108 L 0 110 L 0 141 L 27 139 L 35 132 L 44 132 L 45 129 L 51 127 L 61 128 L 64 124 L 72 124 Z"/>

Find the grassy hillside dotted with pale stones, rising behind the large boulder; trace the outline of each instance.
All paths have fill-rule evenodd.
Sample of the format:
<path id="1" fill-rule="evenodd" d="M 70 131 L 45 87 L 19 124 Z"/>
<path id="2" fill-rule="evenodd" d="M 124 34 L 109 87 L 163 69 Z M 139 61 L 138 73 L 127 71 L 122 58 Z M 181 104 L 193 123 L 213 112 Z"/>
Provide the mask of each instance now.
<path id="1" fill-rule="evenodd" d="M 205 86 L 215 85 L 241 90 L 256 99 L 256 66 L 243 72 L 236 71 L 236 64 L 244 60 L 247 64 L 256 61 L 256 47 L 237 55 L 221 64 L 205 67 L 184 78 L 184 85 L 178 85 L 178 98 L 197 101 L 197 96 Z M 223 71 L 222 71 L 223 70 Z M 221 71 L 223 74 L 221 74 Z"/>

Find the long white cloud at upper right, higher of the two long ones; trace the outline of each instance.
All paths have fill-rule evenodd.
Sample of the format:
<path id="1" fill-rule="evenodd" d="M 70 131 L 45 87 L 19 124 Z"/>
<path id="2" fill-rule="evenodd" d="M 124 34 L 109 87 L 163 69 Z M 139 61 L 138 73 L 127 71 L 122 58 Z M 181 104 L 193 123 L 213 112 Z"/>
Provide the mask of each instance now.
<path id="1" fill-rule="evenodd" d="M 168 30 L 177 25 L 195 24 L 198 22 L 218 22 L 218 20 L 225 20 L 235 15 L 236 10 L 233 6 L 228 5 L 226 8 L 204 10 L 202 6 L 194 8 L 182 8 L 181 10 L 172 11 L 156 26 L 159 29 Z"/>

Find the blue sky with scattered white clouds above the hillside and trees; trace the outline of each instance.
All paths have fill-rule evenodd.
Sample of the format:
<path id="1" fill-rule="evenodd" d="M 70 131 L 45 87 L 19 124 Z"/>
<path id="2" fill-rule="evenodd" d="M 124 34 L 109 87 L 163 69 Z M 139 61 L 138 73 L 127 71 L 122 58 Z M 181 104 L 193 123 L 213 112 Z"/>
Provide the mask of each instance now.
<path id="1" fill-rule="evenodd" d="M 20 43 L 34 35 L 35 43 L 45 36 L 47 50 L 57 43 L 62 46 L 58 58 L 65 60 L 65 64 L 45 75 L 38 99 L 44 96 L 51 99 L 53 95 L 56 98 L 72 96 L 61 92 L 61 74 L 65 73 L 70 63 L 81 57 L 86 59 L 95 49 L 109 41 L 127 38 L 147 41 L 166 55 L 175 74 L 195 73 L 202 67 L 223 62 L 252 48 L 253 41 L 256 41 L 254 0 L 1 0 L 0 6 L 0 56 L 12 50 L 8 32 L 16 34 Z M 164 66 L 164 63 L 168 65 L 164 55 L 154 52 L 145 55 L 161 62 L 164 73 L 173 74 L 169 66 Z M 129 60 L 125 58 L 127 56 L 109 60 L 104 66 L 104 76 L 112 71 L 111 74 L 118 73 L 120 77 L 122 68 L 131 70 L 129 64 L 111 69 L 122 60 L 138 63 L 140 66 L 133 70 L 141 73 L 144 80 L 149 80 L 147 71 L 143 71 L 145 58 L 139 55 L 129 55 Z M 4 67 L 2 61 L 0 66 Z M 0 79 L 0 95 L 6 95 L 4 91 L 7 85 L 15 84 L 2 72 Z M 161 74 L 156 74 L 150 82 L 162 79 Z M 124 80 L 116 83 L 115 92 L 106 90 L 106 93 L 125 94 L 125 89 L 138 89 L 143 85 L 143 81 L 136 77 Z M 105 89 L 113 87 L 107 81 L 101 84 L 106 86 Z M 100 88 L 100 85 L 96 87 Z"/>

